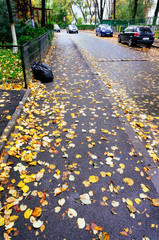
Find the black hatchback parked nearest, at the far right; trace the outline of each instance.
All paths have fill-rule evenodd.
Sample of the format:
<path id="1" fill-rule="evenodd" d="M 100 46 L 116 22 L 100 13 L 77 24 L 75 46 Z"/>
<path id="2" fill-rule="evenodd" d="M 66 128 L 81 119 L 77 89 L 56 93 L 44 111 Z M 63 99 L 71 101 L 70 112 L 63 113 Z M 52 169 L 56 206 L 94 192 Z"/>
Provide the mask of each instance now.
<path id="1" fill-rule="evenodd" d="M 151 47 L 154 42 L 152 29 L 148 26 L 128 26 L 124 31 L 118 35 L 119 43 L 128 43 L 128 46 L 135 46 L 136 44 L 144 44 Z"/>

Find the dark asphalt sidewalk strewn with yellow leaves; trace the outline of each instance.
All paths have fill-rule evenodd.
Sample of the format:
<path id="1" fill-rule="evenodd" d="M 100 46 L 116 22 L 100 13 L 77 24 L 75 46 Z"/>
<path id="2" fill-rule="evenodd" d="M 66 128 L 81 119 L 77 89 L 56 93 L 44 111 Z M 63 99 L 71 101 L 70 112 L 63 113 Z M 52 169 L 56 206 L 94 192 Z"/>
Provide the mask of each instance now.
<path id="1" fill-rule="evenodd" d="M 157 170 L 144 148 L 135 150 L 131 128 L 77 46 L 56 36 L 54 82 L 33 89 L 1 165 L 0 236 L 158 240 Z"/>

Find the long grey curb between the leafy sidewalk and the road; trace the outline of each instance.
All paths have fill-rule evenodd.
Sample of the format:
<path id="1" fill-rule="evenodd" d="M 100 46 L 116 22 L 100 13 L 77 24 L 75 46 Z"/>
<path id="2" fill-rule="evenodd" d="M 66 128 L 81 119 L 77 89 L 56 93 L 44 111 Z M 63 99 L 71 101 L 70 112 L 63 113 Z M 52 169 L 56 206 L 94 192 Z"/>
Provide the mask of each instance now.
<path id="1" fill-rule="evenodd" d="M 125 128 L 125 133 L 127 134 L 128 138 L 130 139 L 132 145 L 134 146 L 135 151 L 137 152 L 138 156 L 142 157 L 141 162 L 143 163 L 143 166 L 148 167 L 148 168 L 151 167 L 151 169 L 148 170 L 148 172 L 149 172 L 149 175 L 151 176 L 151 181 L 154 185 L 154 188 L 156 189 L 156 192 L 159 194 L 159 184 L 158 184 L 159 169 L 154 164 L 154 162 L 153 162 L 152 158 L 150 157 L 150 155 L 148 154 L 145 146 L 139 140 L 138 135 L 135 133 L 134 129 L 131 127 L 126 116 L 124 115 L 122 110 L 117 105 L 114 97 L 111 95 L 108 88 L 105 86 L 105 84 L 102 81 L 99 74 L 94 72 L 94 68 L 93 68 L 92 64 L 89 62 L 87 57 L 83 54 L 83 51 L 80 49 L 80 47 L 78 46 L 78 44 L 75 41 L 73 41 L 73 42 L 76 45 L 79 52 L 81 53 L 81 56 L 83 57 L 83 59 L 88 64 L 88 67 L 90 68 L 92 74 L 96 77 L 97 81 L 101 85 L 101 88 L 104 89 L 105 93 L 108 95 L 108 97 L 107 97 L 108 101 L 111 103 L 111 105 L 113 104 L 116 106 L 116 110 L 119 114 L 118 119 L 121 122 L 122 126 Z"/>

